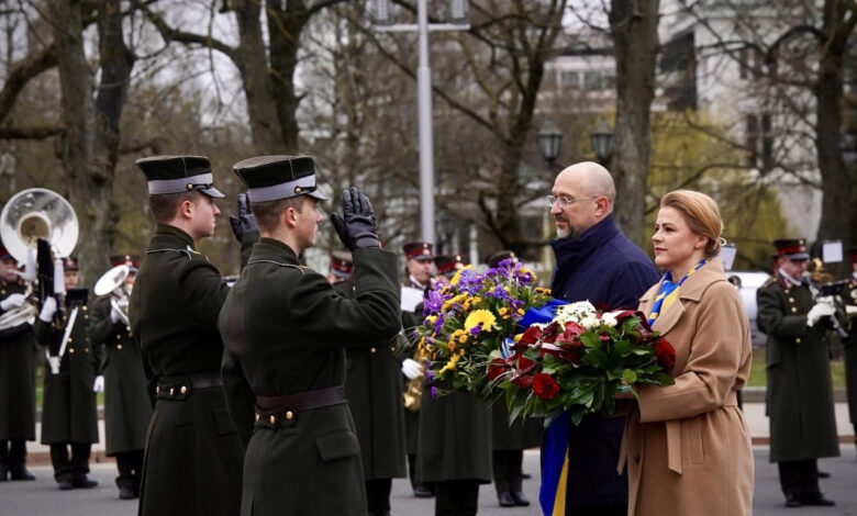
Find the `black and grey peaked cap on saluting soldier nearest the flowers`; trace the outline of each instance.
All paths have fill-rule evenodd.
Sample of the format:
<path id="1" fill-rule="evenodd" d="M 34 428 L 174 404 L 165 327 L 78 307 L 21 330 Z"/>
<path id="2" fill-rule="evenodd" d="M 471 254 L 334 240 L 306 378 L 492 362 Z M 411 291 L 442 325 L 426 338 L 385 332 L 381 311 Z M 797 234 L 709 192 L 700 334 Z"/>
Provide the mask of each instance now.
<path id="1" fill-rule="evenodd" d="M 236 162 L 232 170 L 247 187 L 251 202 L 298 195 L 327 200 L 315 184 L 315 161 L 309 156 L 257 156 Z"/>

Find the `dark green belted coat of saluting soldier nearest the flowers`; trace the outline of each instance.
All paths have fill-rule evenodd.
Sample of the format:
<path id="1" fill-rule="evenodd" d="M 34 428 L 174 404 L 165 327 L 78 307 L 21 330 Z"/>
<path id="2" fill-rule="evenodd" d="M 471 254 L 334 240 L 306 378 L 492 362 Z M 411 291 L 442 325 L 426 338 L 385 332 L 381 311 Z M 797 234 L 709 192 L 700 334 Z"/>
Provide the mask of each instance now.
<path id="1" fill-rule="evenodd" d="M 253 395 L 281 396 L 345 382 L 345 348 L 399 332 L 396 256 L 354 250 L 355 299 L 263 238 L 223 305 L 224 388 L 246 444 L 242 515 L 366 515 L 360 449 L 348 405 L 292 412 L 254 427 Z M 274 417 L 274 416 L 271 416 Z"/>

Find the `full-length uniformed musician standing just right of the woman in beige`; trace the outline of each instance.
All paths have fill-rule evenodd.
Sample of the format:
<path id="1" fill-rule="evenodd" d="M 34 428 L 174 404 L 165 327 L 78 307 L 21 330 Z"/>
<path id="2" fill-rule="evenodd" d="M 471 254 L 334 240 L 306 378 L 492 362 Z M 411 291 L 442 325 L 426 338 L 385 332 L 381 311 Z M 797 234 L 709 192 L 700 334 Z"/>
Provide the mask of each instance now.
<path id="1" fill-rule="evenodd" d="M 786 505 L 834 505 L 819 489 L 817 460 L 837 457 L 831 364 L 824 333 L 833 309 L 816 303 L 803 274 L 803 239 L 775 240 L 777 274 L 757 292 L 767 343 L 770 461 L 779 463 Z"/>

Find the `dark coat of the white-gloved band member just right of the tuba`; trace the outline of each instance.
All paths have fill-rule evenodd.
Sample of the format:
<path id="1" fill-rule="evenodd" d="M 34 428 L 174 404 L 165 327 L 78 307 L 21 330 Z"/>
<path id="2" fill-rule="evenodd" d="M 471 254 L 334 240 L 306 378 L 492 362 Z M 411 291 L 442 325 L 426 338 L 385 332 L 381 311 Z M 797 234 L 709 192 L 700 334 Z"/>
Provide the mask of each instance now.
<path id="1" fill-rule="evenodd" d="M 64 307 L 63 318 L 45 323 L 36 317 L 35 338 L 51 355 L 59 351 L 73 307 Z M 79 306 L 59 373 L 53 374 L 45 359 L 45 391 L 42 402 L 42 444 L 98 442 L 98 413 L 92 383 L 103 362 L 89 338 L 89 307 Z"/>

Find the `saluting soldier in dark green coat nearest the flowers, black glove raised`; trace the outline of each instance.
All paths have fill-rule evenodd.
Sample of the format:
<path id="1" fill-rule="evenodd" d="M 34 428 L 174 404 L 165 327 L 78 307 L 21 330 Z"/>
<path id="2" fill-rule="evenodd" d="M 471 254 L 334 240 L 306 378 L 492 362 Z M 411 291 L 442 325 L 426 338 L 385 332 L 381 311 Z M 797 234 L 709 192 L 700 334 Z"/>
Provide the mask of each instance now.
<path id="1" fill-rule="evenodd" d="M 234 168 L 261 234 L 219 322 L 230 413 L 246 447 L 242 515 L 365 516 L 345 348 L 399 332 L 396 256 L 379 248 L 366 195 L 344 192 L 343 215 L 331 218 L 354 255 L 356 289 L 342 296 L 298 260 L 323 220 L 313 159 L 260 156 Z"/>

